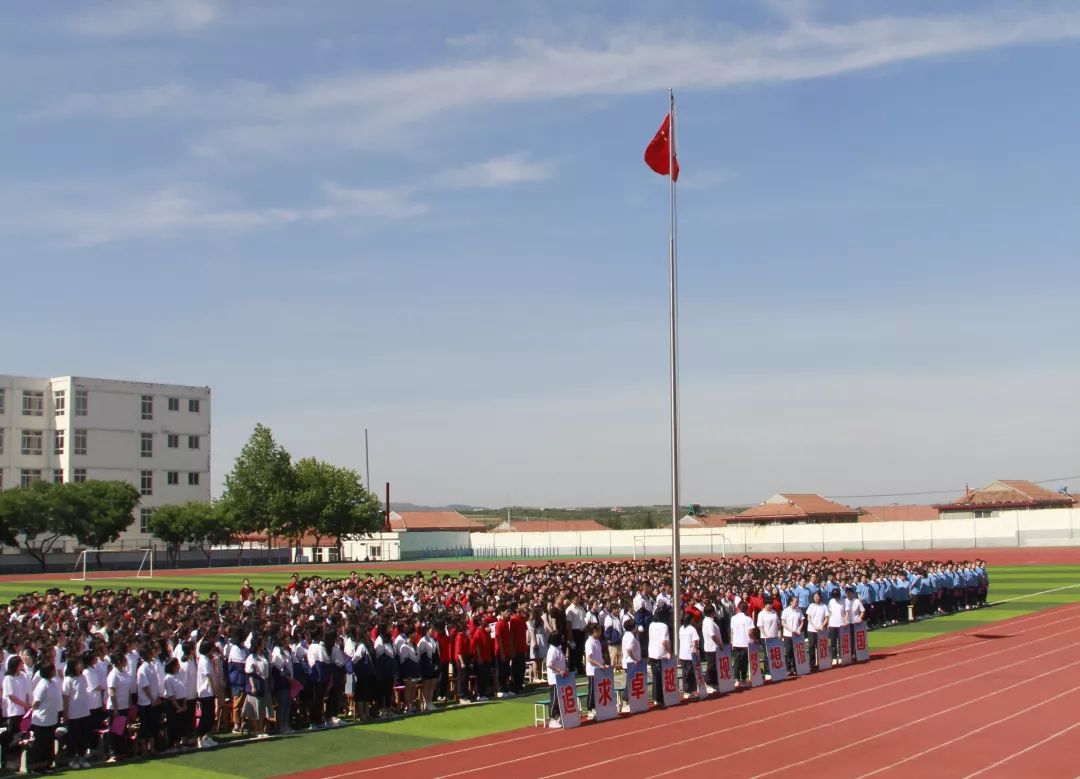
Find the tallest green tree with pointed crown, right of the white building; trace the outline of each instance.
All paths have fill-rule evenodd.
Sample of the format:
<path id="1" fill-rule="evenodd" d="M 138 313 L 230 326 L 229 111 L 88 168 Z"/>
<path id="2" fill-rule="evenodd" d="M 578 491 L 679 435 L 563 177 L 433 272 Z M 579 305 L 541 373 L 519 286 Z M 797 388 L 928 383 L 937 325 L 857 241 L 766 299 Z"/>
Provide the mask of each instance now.
<path id="1" fill-rule="evenodd" d="M 239 533 L 275 536 L 295 533 L 292 457 L 273 440 L 270 428 L 256 425 L 232 471 L 225 478 L 221 503 Z"/>

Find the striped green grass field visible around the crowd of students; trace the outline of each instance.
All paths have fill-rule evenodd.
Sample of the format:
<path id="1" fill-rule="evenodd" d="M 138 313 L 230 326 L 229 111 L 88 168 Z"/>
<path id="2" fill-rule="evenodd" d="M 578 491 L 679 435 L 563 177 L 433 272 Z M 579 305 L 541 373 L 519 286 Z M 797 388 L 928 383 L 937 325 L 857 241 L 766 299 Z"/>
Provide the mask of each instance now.
<path id="1" fill-rule="evenodd" d="M 256 587 L 272 587 L 288 579 L 291 572 L 253 575 Z M 400 573 L 400 572 L 399 572 Z M 201 576 L 184 579 L 154 577 L 139 580 L 154 588 L 198 587 L 216 590 L 222 599 L 235 593 L 239 576 Z M 133 586 L 132 578 L 95 580 L 97 586 Z M 152 583 L 151 583 L 152 581 Z M 167 583 L 166 583 L 167 582 Z M 31 589 L 43 590 L 51 582 L 35 581 Z M 82 582 L 60 580 L 53 586 L 76 588 Z M 0 596 L 25 592 L 26 585 L 4 582 Z M 1080 602 L 1080 566 L 998 566 L 990 568 L 990 601 L 997 605 L 949 617 L 923 620 L 915 624 L 889 628 L 870 633 L 872 650 L 900 646 L 913 641 L 1031 614 L 1066 603 Z M 243 743 L 210 752 L 178 755 L 149 763 L 108 766 L 116 779 L 265 779 L 308 768 L 336 765 L 349 761 L 393 754 L 446 741 L 486 736 L 503 730 L 527 727 L 532 722 L 532 702 L 546 700 L 546 691 L 507 701 L 455 708 L 431 715 L 414 716 L 388 723 L 376 723 L 338 730 L 326 730 L 287 739 L 259 743 Z"/>

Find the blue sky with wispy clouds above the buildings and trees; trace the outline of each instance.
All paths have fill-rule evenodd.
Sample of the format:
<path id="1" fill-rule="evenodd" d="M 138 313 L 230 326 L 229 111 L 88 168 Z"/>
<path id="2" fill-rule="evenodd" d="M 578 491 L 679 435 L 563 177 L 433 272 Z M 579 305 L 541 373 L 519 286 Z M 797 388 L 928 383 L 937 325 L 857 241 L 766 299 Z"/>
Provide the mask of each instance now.
<path id="1" fill-rule="evenodd" d="M 210 385 L 215 489 L 262 421 L 403 500 L 662 502 L 669 85 L 688 500 L 1080 472 L 1074 3 L 9 18 L 0 368 Z"/>

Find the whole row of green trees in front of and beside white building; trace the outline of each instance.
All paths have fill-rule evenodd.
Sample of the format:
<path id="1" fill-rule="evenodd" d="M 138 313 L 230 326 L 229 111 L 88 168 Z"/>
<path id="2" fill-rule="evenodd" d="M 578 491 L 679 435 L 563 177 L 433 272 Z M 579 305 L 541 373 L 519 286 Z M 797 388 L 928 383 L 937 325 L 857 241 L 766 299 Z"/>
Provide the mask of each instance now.
<path id="1" fill-rule="evenodd" d="M 0 492 L 0 541 L 38 561 L 65 537 L 83 549 L 100 549 L 135 521 L 139 493 L 126 482 L 86 481 Z M 185 545 L 211 556 L 212 549 L 238 539 L 259 537 L 269 547 L 287 540 L 297 546 L 345 541 L 382 526 L 379 499 L 360 474 L 313 457 L 293 461 L 270 429 L 256 425 L 225 478 L 225 492 L 211 503 L 191 501 L 160 506 L 148 529 L 165 545 L 175 563 Z"/>

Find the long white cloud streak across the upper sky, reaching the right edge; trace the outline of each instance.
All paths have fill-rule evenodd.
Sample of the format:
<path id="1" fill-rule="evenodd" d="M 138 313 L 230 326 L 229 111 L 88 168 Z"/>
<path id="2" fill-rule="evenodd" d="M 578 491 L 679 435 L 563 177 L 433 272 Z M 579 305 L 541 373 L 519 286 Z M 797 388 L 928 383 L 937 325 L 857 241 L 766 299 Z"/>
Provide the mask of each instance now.
<path id="1" fill-rule="evenodd" d="M 624 27 L 589 42 L 525 39 L 509 55 L 463 55 L 424 68 L 353 72 L 291 89 L 170 83 L 73 95 L 35 116 L 193 120 L 203 127 L 197 148 L 204 153 L 272 153 L 300 140 L 381 147 L 403 129 L 423 132 L 448 113 L 497 105 L 660 93 L 673 84 L 716 91 L 1080 38 L 1080 10 L 1025 6 L 825 24 L 805 16 L 812 5 L 789 8 L 795 12 L 779 31 L 719 27 L 687 37 Z"/>

